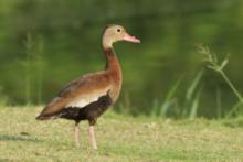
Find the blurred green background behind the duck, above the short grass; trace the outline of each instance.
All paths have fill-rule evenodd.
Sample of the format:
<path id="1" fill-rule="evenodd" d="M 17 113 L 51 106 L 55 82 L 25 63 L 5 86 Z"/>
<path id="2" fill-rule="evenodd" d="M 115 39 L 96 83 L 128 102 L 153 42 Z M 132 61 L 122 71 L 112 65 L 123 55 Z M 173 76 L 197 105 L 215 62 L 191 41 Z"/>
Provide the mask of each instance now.
<path id="1" fill-rule="evenodd" d="M 230 53 L 225 73 L 243 91 L 242 20 L 242 0 L 2 0 L 0 102 L 42 105 L 70 80 L 103 69 L 102 31 L 117 23 L 141 40 L 115 44 L 124 71 L 117 111 L 225 117 L 237 99 L 196 44 L 220 60 Z"/>

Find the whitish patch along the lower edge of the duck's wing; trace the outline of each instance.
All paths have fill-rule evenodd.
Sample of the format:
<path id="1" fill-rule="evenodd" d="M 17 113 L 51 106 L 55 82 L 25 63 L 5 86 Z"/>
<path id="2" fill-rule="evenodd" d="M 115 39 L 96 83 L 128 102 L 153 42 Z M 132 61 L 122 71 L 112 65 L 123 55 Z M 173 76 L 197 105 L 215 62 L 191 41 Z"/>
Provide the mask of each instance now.
<path id="1" fill-rule="evenodd" d="M 65 107 L 75 107 L 75 108 L 84 108 L 91 102 L 97 101 L 99 97 L 105 96 L 107 90 L 97 90 L 88 95 L 81 95 L 74 98 L 71 102 L 68 102 Z"/>

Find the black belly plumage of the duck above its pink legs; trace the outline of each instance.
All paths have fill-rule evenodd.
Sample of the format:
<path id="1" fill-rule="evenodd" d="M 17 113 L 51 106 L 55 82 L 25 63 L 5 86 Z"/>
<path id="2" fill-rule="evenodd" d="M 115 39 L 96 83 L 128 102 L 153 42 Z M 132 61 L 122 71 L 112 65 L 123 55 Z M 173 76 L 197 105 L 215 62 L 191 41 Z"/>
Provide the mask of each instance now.
<path id="1" fill-rule="evenodd" d="M 105 110 L 112 106 L 112 98 L 109 95 L 105 95 L 98 98 L 98 100 L 88 104 L 87 106 L 80 107 L 67 107 L 59 112 L 60 118 L 75 120 L 88 120 L 89 125 L 95 125 L 97 118 L 105 112 Z"/>

